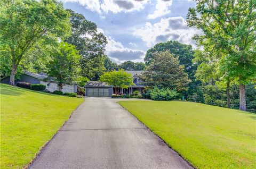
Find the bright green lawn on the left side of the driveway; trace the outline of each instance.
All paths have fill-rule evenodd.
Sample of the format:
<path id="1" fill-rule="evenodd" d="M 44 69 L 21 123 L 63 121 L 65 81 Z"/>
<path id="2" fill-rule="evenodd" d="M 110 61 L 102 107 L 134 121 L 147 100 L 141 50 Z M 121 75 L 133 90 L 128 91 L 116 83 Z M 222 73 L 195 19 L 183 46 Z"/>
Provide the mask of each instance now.
<path id="1" fill-rule="evenodd" d="M 23 168 L 83 98 L 1 84 L 1 167 Z"/>

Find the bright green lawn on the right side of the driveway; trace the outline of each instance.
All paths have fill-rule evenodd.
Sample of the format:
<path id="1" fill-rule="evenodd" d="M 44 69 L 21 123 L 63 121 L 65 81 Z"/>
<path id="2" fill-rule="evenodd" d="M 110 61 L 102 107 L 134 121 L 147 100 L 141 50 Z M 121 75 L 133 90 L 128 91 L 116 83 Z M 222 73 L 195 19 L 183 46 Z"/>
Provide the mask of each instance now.
<path id="1" fill-rule="evenodd" d="M 119 104 L 197 168 L 256 168 L 256 114 L 190 102 Z"/>

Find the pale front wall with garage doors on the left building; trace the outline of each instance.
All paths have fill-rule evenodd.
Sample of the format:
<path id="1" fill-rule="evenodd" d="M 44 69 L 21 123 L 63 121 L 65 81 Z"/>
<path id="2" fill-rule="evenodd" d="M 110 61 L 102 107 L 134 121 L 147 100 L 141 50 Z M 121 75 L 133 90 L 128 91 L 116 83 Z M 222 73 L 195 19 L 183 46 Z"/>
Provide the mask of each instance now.
<path id="1" fill-rule="evenodd" d="M 46 89 L 53 92 L 54 90 L 58 90 L 58 83 L 50 82 L 50 81 L 40 81 L 40 84 L 45 85 Z M 62 92 L 76 92 L 77 85 L 64 85 L 62 88 Z"/>

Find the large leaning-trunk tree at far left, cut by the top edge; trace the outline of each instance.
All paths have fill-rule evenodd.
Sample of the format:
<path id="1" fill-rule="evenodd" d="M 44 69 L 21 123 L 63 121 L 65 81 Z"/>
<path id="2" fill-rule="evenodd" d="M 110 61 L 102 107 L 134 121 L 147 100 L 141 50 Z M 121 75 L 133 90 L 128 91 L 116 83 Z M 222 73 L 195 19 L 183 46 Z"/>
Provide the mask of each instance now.
<path id="1" fill-rule="evenodd" d="M 20 61 L 31 47 L 42 39 L 57 40 L 68 35 L 68 19 L 69 13 L 57 1 L 1 1 L 0 44 L 12 61 L 10 85 L 14 85 Z"/>

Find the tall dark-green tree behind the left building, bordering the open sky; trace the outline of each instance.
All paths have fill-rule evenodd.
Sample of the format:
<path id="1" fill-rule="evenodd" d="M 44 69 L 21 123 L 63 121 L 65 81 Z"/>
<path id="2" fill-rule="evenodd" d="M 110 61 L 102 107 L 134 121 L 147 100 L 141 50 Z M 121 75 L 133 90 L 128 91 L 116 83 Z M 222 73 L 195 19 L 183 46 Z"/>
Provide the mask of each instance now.
<path id="1" fill-rule="evenodd" d="M 69 44 L 76 46 L 79 54 L 82 56 L 80 60 L 81 75 L 91 80 L 97 80 L 106 69 L 105 46 L 107 38 L 103 33 L 99 33 L 97 25 L 84 18 L 84 15 L 70 12 L 71 36 L 66 39 Z"/>

